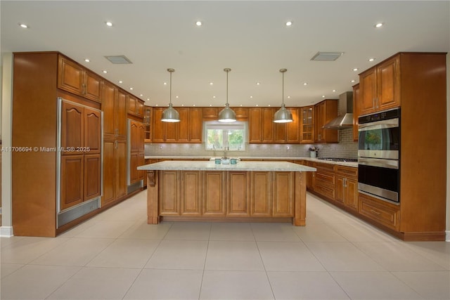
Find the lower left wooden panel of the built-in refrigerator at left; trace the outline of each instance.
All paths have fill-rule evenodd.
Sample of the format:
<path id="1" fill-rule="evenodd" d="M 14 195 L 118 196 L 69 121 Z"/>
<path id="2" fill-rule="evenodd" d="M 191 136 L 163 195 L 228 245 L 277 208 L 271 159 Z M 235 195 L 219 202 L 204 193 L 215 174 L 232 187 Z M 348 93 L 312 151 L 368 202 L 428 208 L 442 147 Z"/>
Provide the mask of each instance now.
<path id="1" fill-rule="evenodd" d="M 83 175 L 83 155 L 61 157 L 61 210 L 83 202 Z"/>

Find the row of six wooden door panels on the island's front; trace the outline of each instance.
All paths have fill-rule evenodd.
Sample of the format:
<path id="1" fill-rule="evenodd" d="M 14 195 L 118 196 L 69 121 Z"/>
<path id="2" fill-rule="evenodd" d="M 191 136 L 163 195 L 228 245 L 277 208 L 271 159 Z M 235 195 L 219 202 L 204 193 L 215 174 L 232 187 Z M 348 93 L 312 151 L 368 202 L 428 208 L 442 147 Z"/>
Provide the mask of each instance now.
<path id="1" fill-rule="evenodd" d="M 294 172 L 167 170 L 159 180 L 161 216 L 294 216 Z"/>

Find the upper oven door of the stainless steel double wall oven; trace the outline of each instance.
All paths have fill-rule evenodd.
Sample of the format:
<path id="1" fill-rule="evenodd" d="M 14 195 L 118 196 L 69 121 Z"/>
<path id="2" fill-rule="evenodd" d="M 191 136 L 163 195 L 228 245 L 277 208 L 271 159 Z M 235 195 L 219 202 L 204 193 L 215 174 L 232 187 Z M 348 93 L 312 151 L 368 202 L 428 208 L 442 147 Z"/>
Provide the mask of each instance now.
<path id="1" fill-rule="evenodd" d="M 359 124 L 358 157 L 399 159 L 399 118 Z"/>

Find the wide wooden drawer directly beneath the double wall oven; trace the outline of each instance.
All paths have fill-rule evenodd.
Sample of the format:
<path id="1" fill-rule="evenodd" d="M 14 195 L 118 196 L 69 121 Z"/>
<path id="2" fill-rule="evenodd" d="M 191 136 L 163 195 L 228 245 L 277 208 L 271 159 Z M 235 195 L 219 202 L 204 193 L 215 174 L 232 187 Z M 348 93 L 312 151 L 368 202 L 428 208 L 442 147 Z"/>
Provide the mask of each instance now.
<path id="1" fill-rule="evenodd" d="M 394 230 L 399 230 L 399 207 L 359 194 L 359 214 Z"/>

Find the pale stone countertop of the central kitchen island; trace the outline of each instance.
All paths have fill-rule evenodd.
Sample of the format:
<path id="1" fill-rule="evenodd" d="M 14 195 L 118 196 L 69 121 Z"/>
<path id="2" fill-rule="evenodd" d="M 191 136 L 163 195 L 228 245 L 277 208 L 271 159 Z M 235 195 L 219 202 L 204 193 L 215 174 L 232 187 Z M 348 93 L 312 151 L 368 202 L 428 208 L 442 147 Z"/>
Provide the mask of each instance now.
<path id="1" fill-rule="evenodd" d="M 316 168 L 307 167 L 293 162 L 238 162 L 238 164 L 215 164 L 214 161 L 165 161 L 146 164 L 138 167 L 139 170 L 190 170 L 190 171 L 316 171 Z"/>

